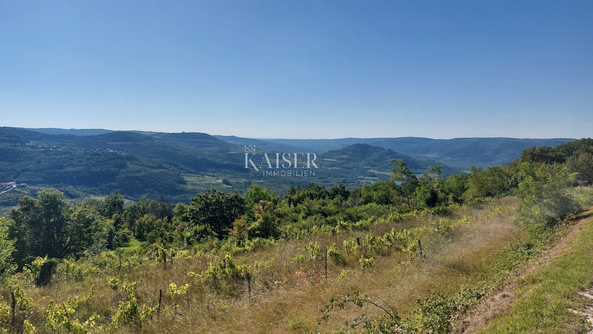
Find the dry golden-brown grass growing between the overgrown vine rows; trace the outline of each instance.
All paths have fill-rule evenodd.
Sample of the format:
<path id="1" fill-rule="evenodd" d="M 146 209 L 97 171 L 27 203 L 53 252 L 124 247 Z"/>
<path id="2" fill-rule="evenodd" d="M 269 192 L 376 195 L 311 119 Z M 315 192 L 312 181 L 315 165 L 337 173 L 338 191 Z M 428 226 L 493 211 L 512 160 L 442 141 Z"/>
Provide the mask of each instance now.
<path id="1" fill-rule="evenodd" d="M 208 256 L 175 259 L 168 268 L 162 264 L 146 263 L 142 268 L 123 273 L 120 279 L 139 281 L 138 300 L 148 306 L 158 303 L 158 289 L 162 288 L 163 299 L 160 316 L 153 317 L 142 326 L 120 327 L 119 333 L 310 333 L 317 326 L 321 316 L 320 308 L 331 297 L 341 297 L 359 290 L 377 296 L 396 308 L 399 314 L 407 314 L 416 308 L 416 300 L 429 292 L 454 294 L 465 285 L 475 284 L 495 275 L 490 264 L 493 253 L 504 250 L 509 240 L 521 236 L 514 220 L 514 198 L 505 198 L 493 203 L 455 209 L 450 220 L 467 216 L 470 222 L 454 228 L 441 237 L 426 243 L 427 260 L 423 262 L 416 255 L 391 252 L 385 255 L 372 254 L 376 268 L 362 269 L 358 253 L 345 256 L 345 264 L 328 261 L 328 279 L 302 278 L 295 272 L 323 269 L 323 262 L 295 263 L 292 258 L 301 253 L 303 244 L 318 242 L 323 247 L 337 243 L 342 250 L 342 241 L 352 236 L 364 237 L 369 232 L 336 236 L 313 236 L 308 240 L 280 242 L 276 246 L 257 252 L 234 256 L 236 263 L 247 264 L 253 271 L 251 296 L 244 282 L 234 297 L 221 295 L 201 285 L 199 278 L 187 276 L 187 272 L 199 273 L 207 268 Z M 388 224 L 381 222 L 372 228 L 372 233 L 381 235 L 391 228 L 403 229 L 433 224 L 439 217 L 424 216 L 412 220 Z M 256 261 L 275 259 L 269 265 L 255 268 Z M 346 278 L 339 278 L 340 272 L 348 271 Z M 43 332 L 43 314 L 49 300 L 60 303 L 67 297 L 87 295 L 94 286 L 95 305 L 93 309 L 103 314 L 103 322 L 113 316 L 117 303 L 124 299 L 121 291 L 112 291 L 107 285 L 110 276 L 90 277 L 82 282 L 60 282 L 47 288 L 27 288 L 27 295 L 33 297 L 35 310 L 31 314 L 36 326 Z M 186 300 L 179 303 L 174 314 L 174 300 L 168 292 L 168 285 L 189 283 L 189 307 Z M 156 291 L 156 292 L 155 292 Z M 377 299 L 374 297 L 374 299 Z M 346 320 L 352 320 L 364 311 L 378 314 L 379 310 L 361 310 L 349 307 L 335 311 L 329 322 L 323 323 L 321 332 L 340 329 Z M 86 314 L 86 311 L 81 313 Z M 100 321 L 101 323 L 101 321 Z M 39 326 L 42 325 L 42 326 Z"/>

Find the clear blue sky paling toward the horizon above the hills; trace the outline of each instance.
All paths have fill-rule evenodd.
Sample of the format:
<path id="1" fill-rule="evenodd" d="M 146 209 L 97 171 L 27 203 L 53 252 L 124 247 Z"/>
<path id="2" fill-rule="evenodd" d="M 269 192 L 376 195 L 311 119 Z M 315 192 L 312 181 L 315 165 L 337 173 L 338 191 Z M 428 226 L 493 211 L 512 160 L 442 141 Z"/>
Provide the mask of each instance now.
<path id="1" fill-rule="evenodd" d="M 593 136 L 593 1 L 0 0 L 0 126 Z"/>

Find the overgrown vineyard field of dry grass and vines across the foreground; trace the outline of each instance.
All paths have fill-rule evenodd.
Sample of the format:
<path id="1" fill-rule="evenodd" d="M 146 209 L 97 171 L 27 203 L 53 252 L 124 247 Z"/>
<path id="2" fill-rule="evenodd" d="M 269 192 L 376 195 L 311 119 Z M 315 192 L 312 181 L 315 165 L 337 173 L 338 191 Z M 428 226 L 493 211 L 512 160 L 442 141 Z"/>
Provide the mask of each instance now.
<path id="1" fill-rule="evenodd" d="M 90 332 L 326 333 L 343 329 L 345 322 L 358 322 L 361 330 L 366 321 L 376 324 L 397 314 L 402 330 L 428 331 L 444 324 L 436 332 L 489 326 L 482 332 L 490 333 L 518 324 L 524 326 L 518 329 L 537 329 L 540 316 L 557 319 L 550 318 L 554 312 L 565 317 L 545 328 L 586 329 L 569 306 L 583 307 L 576 292 L 586 288 L 593 272 L 573 270 L 575 275 L 566 282 L 560 276 L 566 267 L 593 268 L 583 253 L 591 247 L 587 236 L 593 220 L 585 215 L 578 230 L 567 222 L 537 234 L 514 223 L 516 212 L 517 199 L 506 197 L 440 214 L 417 212 L 397 220 L 386 215 L 359 231 L 320 230 L 299 240 L 259 240 L 242 248 L 213 241 L 197 252 L 170 254 L 165 262 L 138 255 L 140 243 L 134 239 L 114 252 L 60 264 L 47 287 L 27 284 L 27 273 L 15 275 L 12 284 L 18 282 L 32 298 L 24 319 L 38 333 L 56 331 L 44 325 L 48 308 L 68 310 L 62 321 L 77 322 Z M 400 240 L 409 243 L 388 237 L 402 235 L 407 237 Z M 554 256 L 538 260 L 554 244 Z M 565 253 L 574 259 L 562 257 Z M 537 270 L 522 275 L 522 268 L 529 266 Z M 130 282 L 136 282 L 135 288 L 127 287 Z M 512 304 L 486 322 L 474 319 L 471 311 L 463 320 L 467 310 L 509 282 L 515 282 Z M 347 295 L 350 301 L 358 296 L 362 307 L 346 303 L 343 310 L 331 308 L 324 320 L 320 310 Z M 2 297 L 10 300 L 7 288 Z M 533 314 L 549 298 L 555 301 L 551 311 Z M 129 321 L 114 323 L 132 300 L 137 308 L 127 310 L 133 313 Z M 150 315 L 142 316 L 143 311 Z M 88 319 L 93 326 L 85 323 Z M 55 328 L 60 331 L 65 323 Z"/>

